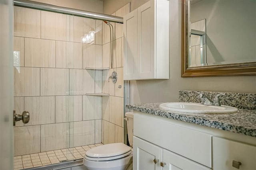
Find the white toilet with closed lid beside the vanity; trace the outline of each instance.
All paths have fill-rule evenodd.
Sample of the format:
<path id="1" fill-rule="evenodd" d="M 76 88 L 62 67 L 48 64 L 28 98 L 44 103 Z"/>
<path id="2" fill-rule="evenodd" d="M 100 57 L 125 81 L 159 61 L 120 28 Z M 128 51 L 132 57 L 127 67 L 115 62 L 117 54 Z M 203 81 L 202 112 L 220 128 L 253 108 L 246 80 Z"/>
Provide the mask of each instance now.
<path id="1" fill-rule="evenodd" d="M 125 113 L 128 139 L 131 147 L 123 143 L 111 143 L 86 151 L 83 164 L 87 170 L 129 170 L 132 169 L 133 113 Z"/>

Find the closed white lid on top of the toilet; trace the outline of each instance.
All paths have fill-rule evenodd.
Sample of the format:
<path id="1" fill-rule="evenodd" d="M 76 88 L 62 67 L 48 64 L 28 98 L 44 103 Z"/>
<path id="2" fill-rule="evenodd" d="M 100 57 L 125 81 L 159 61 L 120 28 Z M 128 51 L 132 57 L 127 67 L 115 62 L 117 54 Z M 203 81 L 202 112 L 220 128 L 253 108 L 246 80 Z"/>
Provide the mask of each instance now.
<path id="1" fill-rule="evenodd" d="M 125 154 L 131 149 L 123 143 L 110 143 L 87 150 L 85 155 L 92 158 L 106 158 Z"/>

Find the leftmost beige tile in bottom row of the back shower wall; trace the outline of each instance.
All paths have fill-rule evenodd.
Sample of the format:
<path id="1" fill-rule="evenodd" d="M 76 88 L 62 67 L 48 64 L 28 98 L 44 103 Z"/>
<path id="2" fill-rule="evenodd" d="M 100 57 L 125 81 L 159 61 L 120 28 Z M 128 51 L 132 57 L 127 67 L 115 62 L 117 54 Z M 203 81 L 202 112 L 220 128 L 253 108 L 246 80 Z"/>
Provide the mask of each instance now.
<path id="1" fill-rule="evenodd" d="M 40 152 L 40 125 L 14 127 L 14 155 Z"/>

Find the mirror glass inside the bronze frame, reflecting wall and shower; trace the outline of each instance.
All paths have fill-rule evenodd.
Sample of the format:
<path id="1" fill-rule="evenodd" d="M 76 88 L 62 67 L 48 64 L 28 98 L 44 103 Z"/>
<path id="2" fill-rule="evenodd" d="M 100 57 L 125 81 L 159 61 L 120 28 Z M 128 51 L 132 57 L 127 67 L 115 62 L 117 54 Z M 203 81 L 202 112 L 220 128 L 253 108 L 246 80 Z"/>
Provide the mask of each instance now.
<path id="1" fill-rule="evenodd" d="M 256 0 L 189 0 L 188 66 L 256 61 Z"/>

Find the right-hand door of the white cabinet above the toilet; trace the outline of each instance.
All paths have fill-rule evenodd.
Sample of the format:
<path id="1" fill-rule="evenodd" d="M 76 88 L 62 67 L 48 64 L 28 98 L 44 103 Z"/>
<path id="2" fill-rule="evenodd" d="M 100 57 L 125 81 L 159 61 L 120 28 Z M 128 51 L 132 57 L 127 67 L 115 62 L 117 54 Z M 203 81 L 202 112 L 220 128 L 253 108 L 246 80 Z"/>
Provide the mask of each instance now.
<path id="1" fill-rule="evenodd" d="M 155 78 L 154 1 L 138 8 L 138 79 Z"/>

